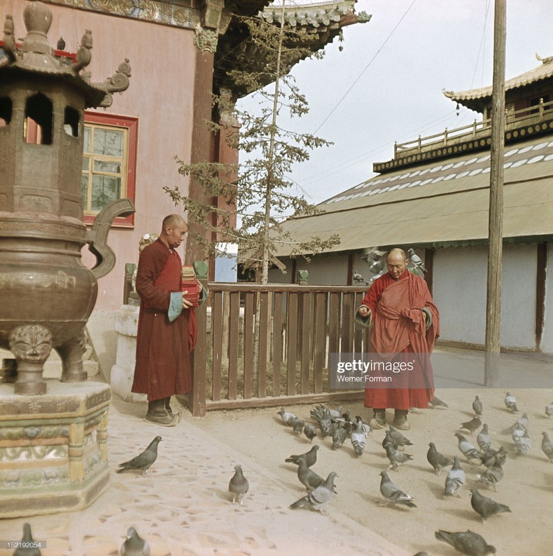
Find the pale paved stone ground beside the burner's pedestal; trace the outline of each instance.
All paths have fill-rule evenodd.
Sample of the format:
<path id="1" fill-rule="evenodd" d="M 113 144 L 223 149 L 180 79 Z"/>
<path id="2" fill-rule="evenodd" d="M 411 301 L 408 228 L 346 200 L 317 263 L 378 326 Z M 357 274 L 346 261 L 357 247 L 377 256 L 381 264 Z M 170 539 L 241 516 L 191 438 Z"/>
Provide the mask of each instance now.
<path id="1" fill-rule="evenodd" d="M 332 509 L 326 515 L 288 506 L 301 497 L 252 459 L 183 419 L 175 428 L 142 420 L 144 404 L 114 399 L 110 408 L 108 490 L 81 512 L 4 519 L 0 541 L 21 538 L 28 521 L 46 541 L 43 556 L 117 555 L 126 529 L 149 541 L 152 556 L 407 553 Z M 158 460 L 146 477 L 116 474 L 118 463 L 140 453 L 157 434 Z M 228 481 L 243 466 L 250 492 L 232 505 Z M 0 549 L 0 556 L 12 550 Z"/>

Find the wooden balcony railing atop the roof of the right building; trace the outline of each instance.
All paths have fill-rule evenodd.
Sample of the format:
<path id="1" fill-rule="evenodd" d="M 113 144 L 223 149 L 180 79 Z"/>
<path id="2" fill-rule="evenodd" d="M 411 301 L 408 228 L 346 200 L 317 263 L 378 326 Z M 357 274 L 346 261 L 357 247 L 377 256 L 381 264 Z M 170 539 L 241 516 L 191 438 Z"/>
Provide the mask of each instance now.
<path id="1" fill-rule="evenodd" d="M 521 108 L 516 111 L 506 112 L 506 130 L 512 130 L 529 124 L 537 124 L 553 119 L 553 101 L 540 102 L 536 106 Z M 436 148 L 438 146 L 454 145 L 467 140 L 480 139 L 489 137 L 491 133 L 491 118 L 482 119 L 481 122 L 462 126 L 454 129 L 447 129 L 442 133 L 435 135 L 427 135 L 426 137 L 418 136 L 417 139 L 406 141 L 404 143 L 394 144 L 394 157 L 402 158 L 413 153 L 422 153 L 423 151 Z"/>

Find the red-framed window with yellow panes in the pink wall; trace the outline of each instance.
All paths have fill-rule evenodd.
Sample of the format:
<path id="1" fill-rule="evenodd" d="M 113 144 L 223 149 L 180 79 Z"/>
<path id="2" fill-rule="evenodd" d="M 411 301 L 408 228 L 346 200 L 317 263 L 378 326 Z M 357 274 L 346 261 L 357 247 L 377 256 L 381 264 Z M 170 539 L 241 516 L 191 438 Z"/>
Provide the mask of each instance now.
<path id="1" fill-rule="evenodd" d="M 137 118 L 85 112 L 81 187 L 86 224 L 112 201 L 134 201 L 137 132 Z M 133 226 L 134 215 L 115 218 L 113 224 Z"/>

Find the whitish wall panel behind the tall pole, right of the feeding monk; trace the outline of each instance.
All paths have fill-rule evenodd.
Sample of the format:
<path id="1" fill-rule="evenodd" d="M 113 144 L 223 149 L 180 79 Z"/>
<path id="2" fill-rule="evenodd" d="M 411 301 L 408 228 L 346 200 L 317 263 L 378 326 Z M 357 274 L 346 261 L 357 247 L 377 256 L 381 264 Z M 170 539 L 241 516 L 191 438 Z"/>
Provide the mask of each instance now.
<path id="1" fill-rule="evenodd" d="M 536 347 L 536 245 L 503 249 L 502 347 Z M 459 247 L 434 254 L 433 296 L 444 340 L 485 343 L 487 249 Z"/>

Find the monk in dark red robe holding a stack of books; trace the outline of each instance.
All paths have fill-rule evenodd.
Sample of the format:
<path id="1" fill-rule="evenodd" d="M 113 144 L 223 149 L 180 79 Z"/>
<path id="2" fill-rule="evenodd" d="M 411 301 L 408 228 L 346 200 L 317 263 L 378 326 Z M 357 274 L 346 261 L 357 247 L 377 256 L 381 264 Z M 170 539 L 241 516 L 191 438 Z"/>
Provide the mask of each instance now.
<path id="1" fill-rule="evenodd" d="M 182 216 L 167 216 L 158 239 L 141 251 L 136 273 L 140 312 L 131 392 L 147 394 L 146 421 L 167 427 L 180 421 L 180 413 L 171 410 L 171 396 L 192 387 L 190 352 L 196 343 L 196 316 L 188 292 L 182 291 L 182 262 L 176 252 L 186 232 Z"/>

